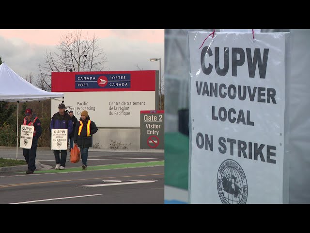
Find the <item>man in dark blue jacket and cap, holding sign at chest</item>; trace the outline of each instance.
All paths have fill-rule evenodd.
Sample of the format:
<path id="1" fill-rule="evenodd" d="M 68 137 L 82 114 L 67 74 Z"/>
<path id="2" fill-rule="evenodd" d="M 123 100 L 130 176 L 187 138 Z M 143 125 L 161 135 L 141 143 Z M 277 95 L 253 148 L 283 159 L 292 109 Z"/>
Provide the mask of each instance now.
<path id="1" fill-rule="evenodd" d="M 65 111 L 66 106 L 63 103 L 58 105 L 58 113 L 55 113 L 52 116 L 50 121 L 50 129 L 68 129 L 68 139 L 69 135 L 73 132 L 73 123 L 69 114 Z M 61 153 L 61 157 L 59 155 Z M 66 166 L 67 160 L 67 150 L 54 150 L 55 169 L 63 170 Z"/>

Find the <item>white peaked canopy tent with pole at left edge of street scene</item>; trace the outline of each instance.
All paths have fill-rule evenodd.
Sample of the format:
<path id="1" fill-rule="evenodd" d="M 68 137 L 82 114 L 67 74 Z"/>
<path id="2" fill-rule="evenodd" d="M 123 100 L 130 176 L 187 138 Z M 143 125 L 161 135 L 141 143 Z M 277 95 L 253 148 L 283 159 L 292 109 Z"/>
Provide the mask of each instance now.
<path id="1" fill-rule="evenodd" d="M 60 92 L 42 90 L 17 75 L 5 63 L 0 65 L 0 101 L 17 102 L 16 125 L 16 158 L 18 151 L 18 103 L 27 101 L 42 101 L 47 99 L 62 98 Z"/>

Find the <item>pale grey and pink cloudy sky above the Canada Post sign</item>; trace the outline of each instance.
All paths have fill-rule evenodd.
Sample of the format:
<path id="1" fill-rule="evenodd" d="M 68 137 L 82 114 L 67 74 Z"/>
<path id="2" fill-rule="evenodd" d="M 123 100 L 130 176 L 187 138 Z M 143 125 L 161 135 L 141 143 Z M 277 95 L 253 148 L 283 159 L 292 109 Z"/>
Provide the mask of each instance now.
<path id="1" fill-rule="evenodd" d="M 0 29 L 0 56 L 2 62 L 16 74 L 25 77 L 39 73 L 38 62 L 43 63 L 46 50 L 56 51 L 61 37 L 71 29 Z M 76 32 L 73 29 L 72 32 Z M 107 56 L 107 71 L 159 70 L 164 75 L 164 29 L 82 29 L 83 35 L 98 38 L 97 45 Z M 105 70 L 106 71 L 106 70 Z"/>

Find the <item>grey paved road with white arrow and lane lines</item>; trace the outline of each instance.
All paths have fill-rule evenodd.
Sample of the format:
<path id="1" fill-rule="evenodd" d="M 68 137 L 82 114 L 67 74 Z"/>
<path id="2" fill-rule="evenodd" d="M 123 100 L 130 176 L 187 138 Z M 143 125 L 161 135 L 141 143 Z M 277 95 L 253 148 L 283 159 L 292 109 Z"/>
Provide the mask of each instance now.
<path id="1" fill-rule="evenodd" d="M 20 153 L 20 154 L 19 154 Z M 0 150 L 2 158 L 16 158 L 16 150 Z M 18 159 L 23 159 L 18 152 Z M 88 169 L 72 164 L 69 153 L 65 170 L 55 170 L 51 150 L 37 153 L 37 161 L 51 169 L 0 173 L 0 203 L 164 203 L 164 153 L 90 151 Z M 109 169 L 135 163 L 138 167 Z M 138 164 L 137 164 L 138 163 Z M 140 166 L 143 165 L 143 166 Z M 102 167 L 102 168 L 101 168 Z"/>

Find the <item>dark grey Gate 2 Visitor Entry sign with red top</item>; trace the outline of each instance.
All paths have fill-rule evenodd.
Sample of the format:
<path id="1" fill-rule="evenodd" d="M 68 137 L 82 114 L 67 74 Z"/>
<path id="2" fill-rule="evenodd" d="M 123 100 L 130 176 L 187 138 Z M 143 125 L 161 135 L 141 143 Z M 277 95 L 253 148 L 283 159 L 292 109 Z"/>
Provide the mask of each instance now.
<path id="1" fill-rule="evenodd" d="M 140 111 L 140 149 L 164 147 L 164 110 Z"/>

